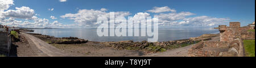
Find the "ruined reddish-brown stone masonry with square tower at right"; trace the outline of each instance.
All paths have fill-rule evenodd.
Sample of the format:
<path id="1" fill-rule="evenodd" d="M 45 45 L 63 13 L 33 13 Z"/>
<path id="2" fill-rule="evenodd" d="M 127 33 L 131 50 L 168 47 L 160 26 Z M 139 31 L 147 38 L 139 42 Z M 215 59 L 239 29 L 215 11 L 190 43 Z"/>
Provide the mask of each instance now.
<path id="1" fill-rule="evenodd" d="M 255 32 L 248 32 L 251 27 L 240 27 L 240 22 L 229 25 L 219 25 L 220 41 L 201 41 L 192 46 L 189 56 L 245 56 L 242 40 L 255 39 Z"/>

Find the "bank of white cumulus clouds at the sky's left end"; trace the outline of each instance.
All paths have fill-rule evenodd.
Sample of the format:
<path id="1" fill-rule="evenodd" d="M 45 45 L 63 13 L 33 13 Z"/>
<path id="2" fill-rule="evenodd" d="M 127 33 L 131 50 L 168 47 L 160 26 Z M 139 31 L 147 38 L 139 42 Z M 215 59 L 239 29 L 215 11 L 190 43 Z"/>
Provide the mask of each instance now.
<path id="1" fill-rule="evenodd" d="M 15 7 L 16 10 L 8 10 L 11 5 L 14 5 L 13 0 L 0 0 L 0 24 L 9 25 L 14 27 L 63 27 L 58 21 L 49 23 L 48 19 L 41 19 L 35 14 L 34 10 L 30 7 Z M 5 11 L 6 10 L 6 11 Z M 53 8 L 49 9 L 53 11 Z M 6 19 L 8 18 L 8 19 Z M 55 16 L 51 16 L 52 19 L 56 19 Z M 16 20 L 23 19 L 24 21 Z"/>

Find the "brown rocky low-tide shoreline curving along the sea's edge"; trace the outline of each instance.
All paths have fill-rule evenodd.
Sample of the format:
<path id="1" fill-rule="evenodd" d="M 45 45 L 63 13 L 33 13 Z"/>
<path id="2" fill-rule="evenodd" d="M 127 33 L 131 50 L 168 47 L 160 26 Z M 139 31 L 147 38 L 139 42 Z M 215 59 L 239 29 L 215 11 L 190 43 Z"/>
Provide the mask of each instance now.
<path id="1" fill-rule="evenodd" d="M 147 42 L 147 41 L 88 41 L 79 39 L 77 37 L 54 37 L 48 35 L 42 35 L 38 33 L 29 33 L 39 39 L 46 41 L 48 44 L 56 46 L 59 49 L 67 49 L 65 46 L 72 45 L 88 45 L 88 46 L 100 46 L 99 48 L 110 47 L 116 50 L 133 50 L 139 51 L 141 54 L 152 54 L 158 52 L 166 52 L 166 50 L 181 48 L 184 46 L 196 44 L 200 41 L 211 40 L 212 37 L 218 36 L 218 34 L 205 34 L 199 37 L 191 37 L 189 39 L 175 40 L 175 41 L 163 41 L 163 42 Z M 69 48 L 69 49 L 72 49 Z M 73 51 L 72 51 L 73 52 Z M 90 53 L 90 52 L 88 52 Z M 86 53 L 86 54 L 88 54 Z"/>

